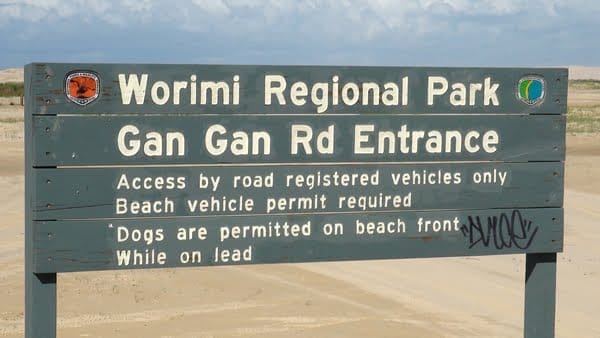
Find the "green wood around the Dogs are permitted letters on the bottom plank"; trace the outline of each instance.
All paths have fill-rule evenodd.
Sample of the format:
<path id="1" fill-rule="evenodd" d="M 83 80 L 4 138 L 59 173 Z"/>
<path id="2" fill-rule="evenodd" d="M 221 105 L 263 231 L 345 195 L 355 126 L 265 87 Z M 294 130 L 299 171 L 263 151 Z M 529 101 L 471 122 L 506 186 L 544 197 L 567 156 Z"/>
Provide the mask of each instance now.
<path id="1" fill-rule="evenodd" d="M 418 219 L 459 220 L 458 231 L 419 232 Z M 469 218 L 470 217 L 470 218 Z M 360 235 L 356 221 L 392 223 L 404 233 Z M 310 236 L 225 239 L 221 227 L 268 225 L 279 222 L 303 225 L 310 222 Z M 324 234 L 325 224 L 344 224 L 343 235 Z M 206 239 L 178 240 L 179 228 L 205 227 Z M 142 229 L 163 239 L 119 242 L 119 227 Z M 430 227 L 429 230 L 432 228 Z M 124 230 L 122 230 L 124 231 Z M 36 272 L 66 272 L 118 268 L 156 268 L 231 264 L 216 262 L 215 247 L 252 247 L 252 260 L 236 264 L 314 262 L 337 260 L 417 258 L 558 252 L 562 250 L 563 209 L 488 209 L 461 211 L 352 213 L 339 215 L 287 215 L 206 218 L 162 218 L 152 220 L 44 221 L 34 224 Z M 273 233 L 274 234 L 274 233 Z M 122 237 L 124 238 L 124 237 Z M 131 237 L 130 237 L 131 238 Z M 143 237 L 142 237 L 143 238 Z M 116 250 L 146 250 L 167 253 L 164 265 L 119 266 Z M 183 264 L 180 253 L 200 250 L 200 264 Z"/>

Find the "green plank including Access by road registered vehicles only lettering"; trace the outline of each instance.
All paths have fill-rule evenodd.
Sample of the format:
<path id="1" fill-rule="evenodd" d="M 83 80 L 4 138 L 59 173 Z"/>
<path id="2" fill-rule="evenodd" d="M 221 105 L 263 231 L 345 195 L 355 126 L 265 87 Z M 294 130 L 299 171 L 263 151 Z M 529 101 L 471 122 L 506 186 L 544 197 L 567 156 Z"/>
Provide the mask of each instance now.
<path id="1" fill-rule="evenodd" d="M 532 208 L 563 203 L 560 162 L 61 168 L 36 173 L 32 210 L 37 220 Z M 402 202 L 395 203 L 395 198 Z M 230 201 L 235 203 L 233 209 Z M 246 208 L 248 201 L 251 210 Z M 136 203 L 148 210 L 140 211 Z M 154 203 L 157 208 L 150 208 Z M 202 203 L 206 208 L 200 210 Z"/>

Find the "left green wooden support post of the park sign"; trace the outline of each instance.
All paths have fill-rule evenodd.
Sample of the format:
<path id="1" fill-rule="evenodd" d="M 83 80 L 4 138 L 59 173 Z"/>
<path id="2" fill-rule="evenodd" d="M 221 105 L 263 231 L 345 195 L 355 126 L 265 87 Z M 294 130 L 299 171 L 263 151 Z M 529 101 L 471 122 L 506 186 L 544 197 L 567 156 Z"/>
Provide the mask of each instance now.
<path id="1" fill-rule="evenodd" d="M 34 88 L 52 74 L 42 76 L 42 65 L 25 67 L 25 337 L 56 337 L 56 273 L 35 273 L 33 224 L 36 221 L 36 168 L 34 117 L 38 104 L 51 104 L 35 95 Z"/>

